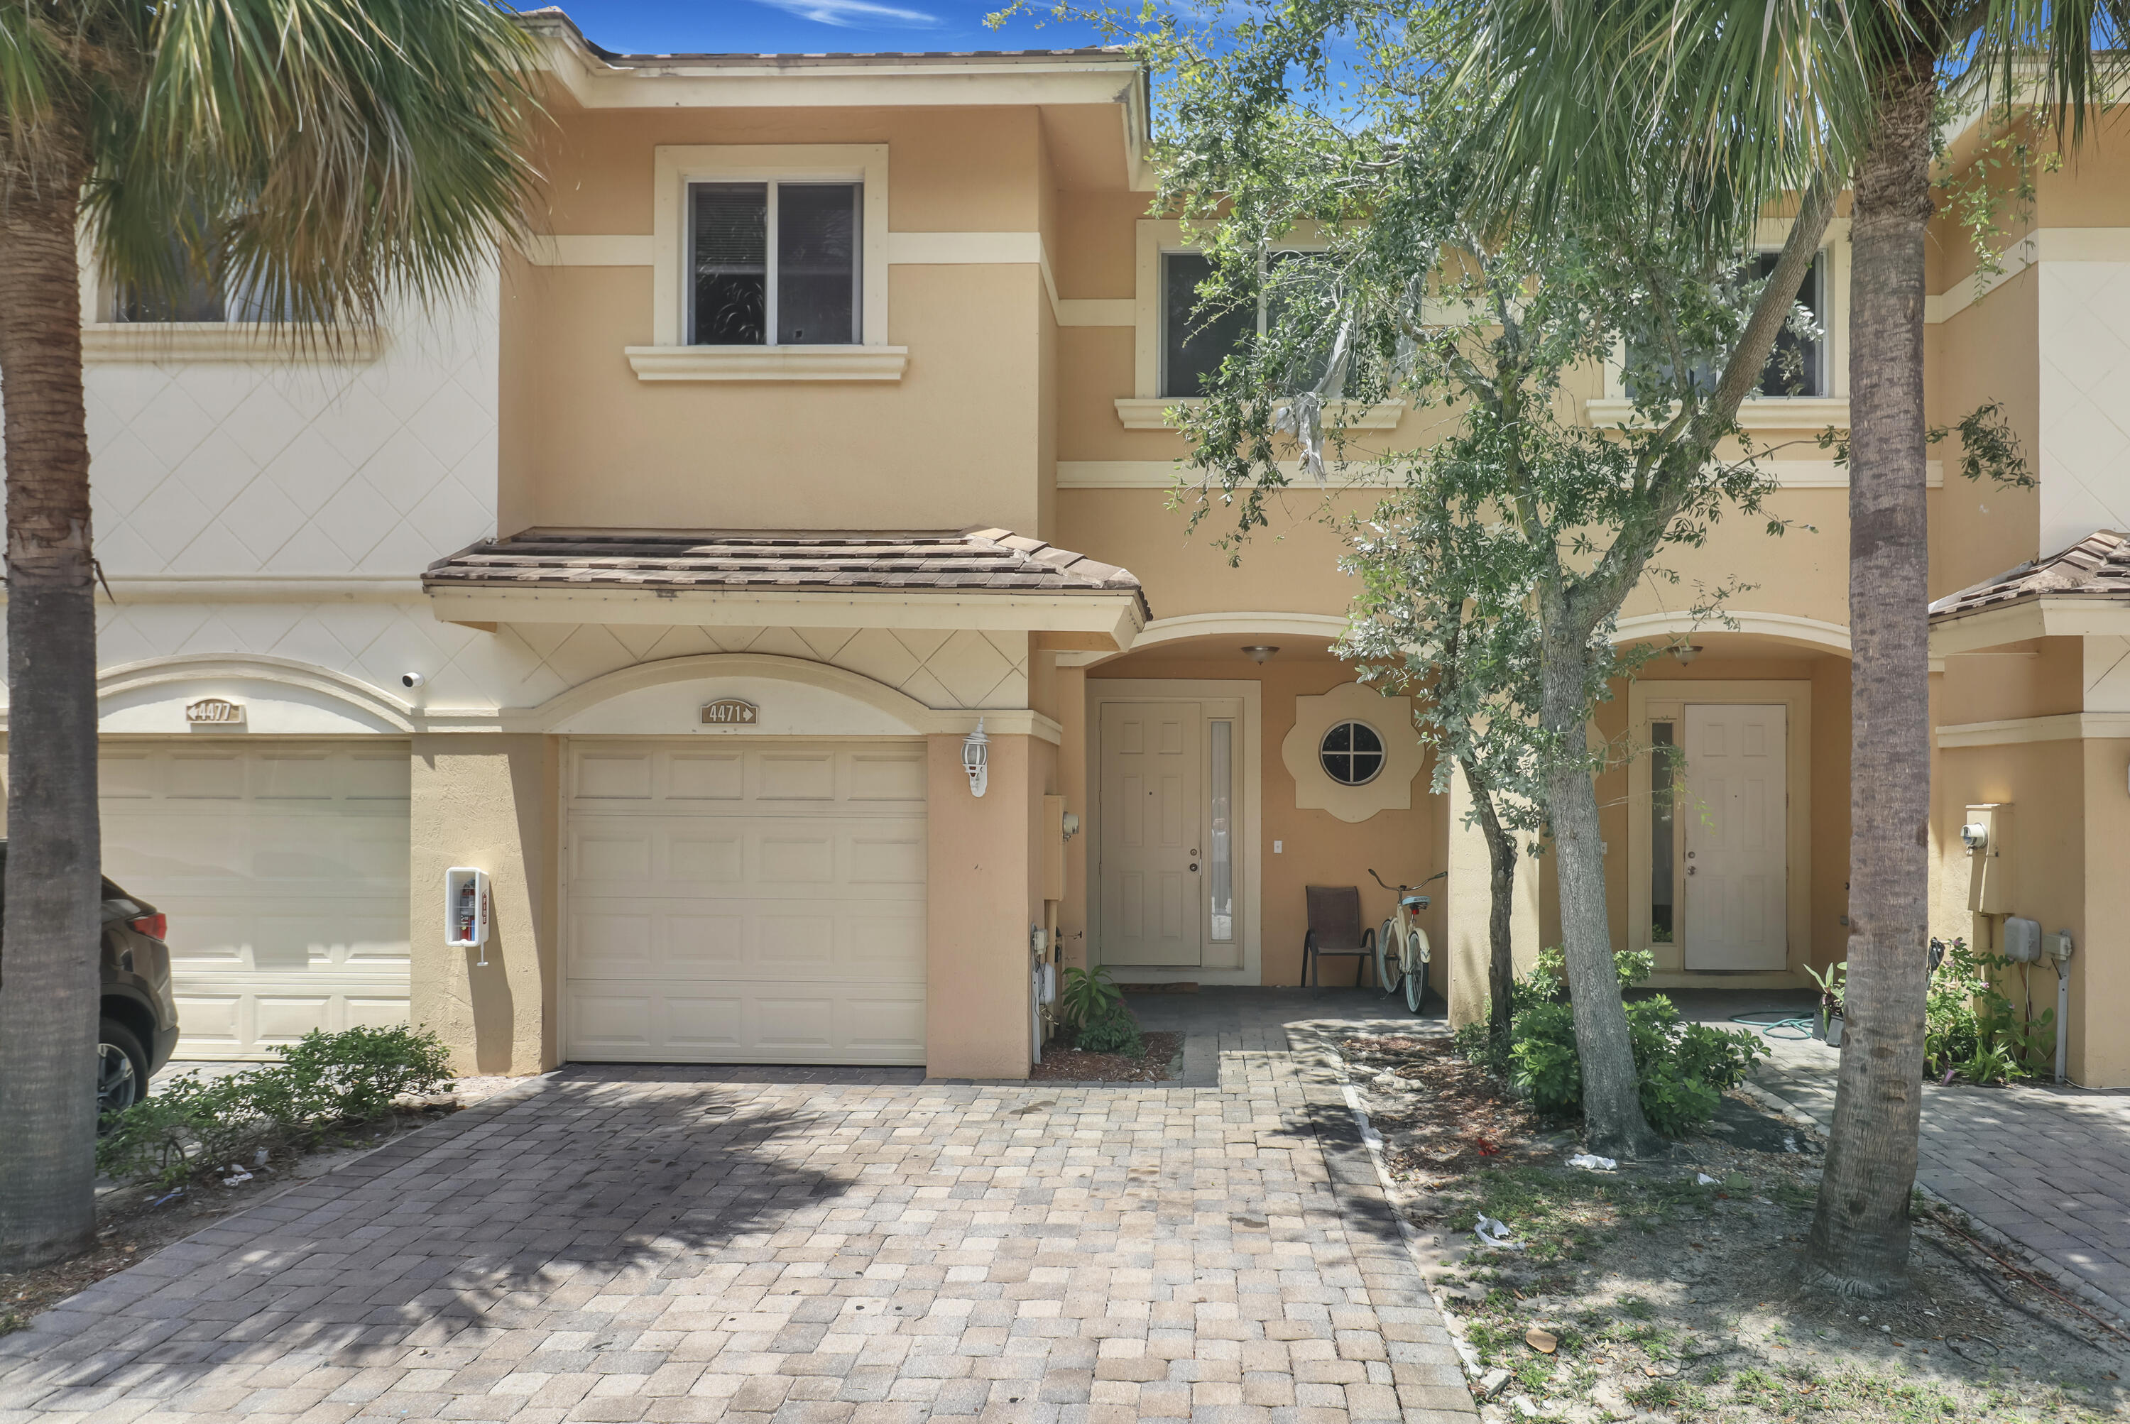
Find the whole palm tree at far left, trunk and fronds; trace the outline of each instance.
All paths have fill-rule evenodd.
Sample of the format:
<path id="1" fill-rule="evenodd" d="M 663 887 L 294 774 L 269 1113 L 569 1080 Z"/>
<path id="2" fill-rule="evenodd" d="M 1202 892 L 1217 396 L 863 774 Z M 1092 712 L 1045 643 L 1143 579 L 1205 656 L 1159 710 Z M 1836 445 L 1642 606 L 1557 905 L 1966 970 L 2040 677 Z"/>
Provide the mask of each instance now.
<path id="1" fill-rule="evenodd" d="M 81 258 L 334 343 L 530 211 L 532 40 L 490 0 L 0 0 L 9 856 L 0 1271 L 94 1237 L 96 560 Z"/>

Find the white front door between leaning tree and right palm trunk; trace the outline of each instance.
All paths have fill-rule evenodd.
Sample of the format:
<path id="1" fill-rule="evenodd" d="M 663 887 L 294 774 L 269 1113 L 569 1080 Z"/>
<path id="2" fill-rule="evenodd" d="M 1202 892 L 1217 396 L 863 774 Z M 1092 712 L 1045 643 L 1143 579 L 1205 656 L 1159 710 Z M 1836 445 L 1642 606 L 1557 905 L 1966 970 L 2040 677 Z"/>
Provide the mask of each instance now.
<path id="1" fill-rule="evenodd" d="M 1687 705 L 1687 968 L 1789 962 L 1787 709 Z"/>

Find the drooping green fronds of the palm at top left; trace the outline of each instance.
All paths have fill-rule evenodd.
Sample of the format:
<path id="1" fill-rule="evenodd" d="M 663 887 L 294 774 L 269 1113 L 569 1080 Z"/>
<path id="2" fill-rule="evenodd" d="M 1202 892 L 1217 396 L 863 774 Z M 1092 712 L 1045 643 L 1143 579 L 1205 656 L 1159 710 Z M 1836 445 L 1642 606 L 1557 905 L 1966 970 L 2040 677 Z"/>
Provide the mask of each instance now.
<path id="1" fill-rule="evenodd" d="M 106 115 L 106 277 L 211 275 L 260 317 L 371 326 L 462 292 L 528 223 L 537 51 L 490 0 L 162 0 Z"/>

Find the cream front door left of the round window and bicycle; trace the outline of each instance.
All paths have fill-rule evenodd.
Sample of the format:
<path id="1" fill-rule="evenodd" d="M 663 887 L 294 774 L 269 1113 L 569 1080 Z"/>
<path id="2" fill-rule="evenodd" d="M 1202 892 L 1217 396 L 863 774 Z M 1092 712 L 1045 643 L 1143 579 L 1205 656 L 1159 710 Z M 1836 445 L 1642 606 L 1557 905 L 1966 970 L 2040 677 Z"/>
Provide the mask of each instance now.
<path id="1" fill-rule="evenodd" d="M 1206 805 L 1197 702 L 1101 707 L 1101 962 L 1201 964 Z"/>

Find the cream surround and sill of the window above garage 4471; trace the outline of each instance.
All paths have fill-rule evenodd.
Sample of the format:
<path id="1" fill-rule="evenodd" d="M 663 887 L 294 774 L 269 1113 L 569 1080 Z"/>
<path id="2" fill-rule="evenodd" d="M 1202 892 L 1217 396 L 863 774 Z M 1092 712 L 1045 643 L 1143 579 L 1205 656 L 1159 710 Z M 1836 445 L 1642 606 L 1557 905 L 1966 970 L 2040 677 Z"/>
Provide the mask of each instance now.
<path id="1" fill-rule="evenodd" d="M 888 145 L 758 143 L 652 149 L 652 345 L 626 347 L 643 381 L 899 381 L 907 351 L 888 347 Z M 856 347 L 690 347 L 686 332 L 688 185 L 850 181 L 865 185 Z M 611 241 L 611 238 L 609 238 Z M 626 251 L 626 249 L 624 249 Z M 850 355 L 861 353 L 861 355 Z M 767 358 L 767 360 L 765 360 Z M 886 358 L 886 360 L 882 360 Z"/>

